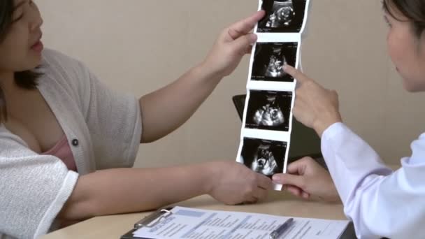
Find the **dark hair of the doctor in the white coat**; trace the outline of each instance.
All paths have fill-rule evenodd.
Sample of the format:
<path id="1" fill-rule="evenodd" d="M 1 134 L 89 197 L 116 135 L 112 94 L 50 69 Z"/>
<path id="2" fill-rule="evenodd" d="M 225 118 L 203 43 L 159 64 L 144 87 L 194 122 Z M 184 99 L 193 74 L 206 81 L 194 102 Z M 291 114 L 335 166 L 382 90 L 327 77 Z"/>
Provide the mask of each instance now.
<path id="1" fill-rule="evenodd" d="M 412 22 L 412 27 L 417 38 L 421 38 L 425 31 L 425 1 L 424 0 L 383 0 L 384 10 L 397 20 L 394 8 Z"/>

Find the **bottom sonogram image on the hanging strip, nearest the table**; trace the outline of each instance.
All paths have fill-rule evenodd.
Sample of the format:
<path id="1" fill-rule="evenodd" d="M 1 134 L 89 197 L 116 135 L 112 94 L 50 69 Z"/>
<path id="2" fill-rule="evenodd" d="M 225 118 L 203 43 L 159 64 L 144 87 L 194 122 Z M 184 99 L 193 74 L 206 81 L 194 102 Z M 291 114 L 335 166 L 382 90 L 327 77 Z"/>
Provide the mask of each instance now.
<path id="1" fill-rule="evenodd" d="M 257 173 L 271 177 L 283 173 L 287 143 L 244 138 L 240 161 Z"/>

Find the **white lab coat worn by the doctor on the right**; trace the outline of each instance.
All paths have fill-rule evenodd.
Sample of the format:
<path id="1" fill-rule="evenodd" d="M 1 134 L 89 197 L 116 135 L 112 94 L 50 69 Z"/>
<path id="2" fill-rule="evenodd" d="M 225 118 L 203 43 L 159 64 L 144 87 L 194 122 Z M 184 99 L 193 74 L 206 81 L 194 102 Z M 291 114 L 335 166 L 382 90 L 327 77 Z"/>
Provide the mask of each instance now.
<path id="1" fill-rule="evenodd" d="M 411 147 L 393 172 L 345 124 L 324 131 L 322 153 L 358 238 L 425 238 L 425 134 Z"/>

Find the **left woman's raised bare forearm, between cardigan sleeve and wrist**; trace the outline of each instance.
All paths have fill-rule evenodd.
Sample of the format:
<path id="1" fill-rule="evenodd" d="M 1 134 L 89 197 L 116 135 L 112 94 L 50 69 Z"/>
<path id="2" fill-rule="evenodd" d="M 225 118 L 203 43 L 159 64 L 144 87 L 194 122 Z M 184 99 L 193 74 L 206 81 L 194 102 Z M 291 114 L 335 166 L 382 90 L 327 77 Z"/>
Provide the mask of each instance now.
<path id="1" fill-rule="evenodd" d="M 196 66 L 178 80 L 141 97 L 142 142 L 149 143 L 171 133 L 192 117 L 215 89 L 222 76 Z"/>

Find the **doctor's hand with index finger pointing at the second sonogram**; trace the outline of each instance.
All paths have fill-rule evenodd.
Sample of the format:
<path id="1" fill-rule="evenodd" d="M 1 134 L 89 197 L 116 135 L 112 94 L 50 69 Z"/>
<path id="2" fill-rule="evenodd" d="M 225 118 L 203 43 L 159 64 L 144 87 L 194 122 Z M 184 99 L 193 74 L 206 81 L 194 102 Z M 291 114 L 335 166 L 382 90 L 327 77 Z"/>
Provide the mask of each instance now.
<path id="1" fill-rule="evenodd" d="M 325 89 L 314 80 L 292 66 L 284 66 L 284 71 L 297 80 L 294 117 L 312 129 L 319 137 L 332 124 L 342 122 L 339 112 L 338 94 Z"/>

